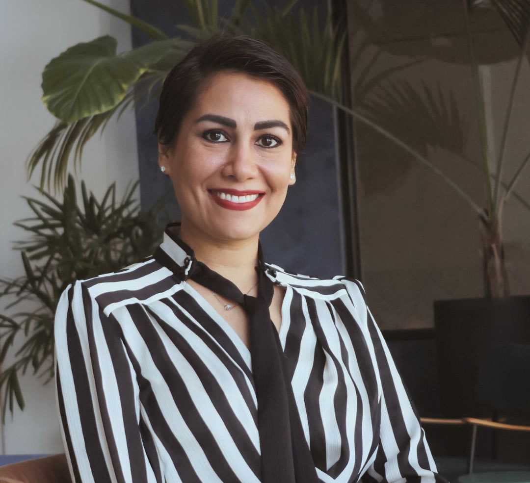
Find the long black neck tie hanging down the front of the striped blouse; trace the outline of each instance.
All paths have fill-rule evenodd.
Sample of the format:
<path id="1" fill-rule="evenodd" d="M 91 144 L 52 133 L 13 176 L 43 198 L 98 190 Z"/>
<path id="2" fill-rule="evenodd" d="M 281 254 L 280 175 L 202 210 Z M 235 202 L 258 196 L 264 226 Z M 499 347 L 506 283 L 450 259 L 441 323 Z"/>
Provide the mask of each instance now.
<path id="1" fill-rule="evenodd" d="M 163 262 L 162 258 L 167 255 L 162 253 L 157 251 L 155 258 Z M 174 262 L 164 265 L 171 268 Z M 182 269 L 175 273 L 181 278 L 184 274 Z M 270 319 L 273 284 L 264 273 L 264 267 L 258 266 L 256 271 L 257 297 L 243 295 L 231 281 L 195 258 L 185 278 L 191 278 L 220 296 L 239 303 L 249 316 L 252 374 L 258 400 L 262 482 L 318 483 L 315 463 L 305 440 L 283 361 L 280 339 Z"/>

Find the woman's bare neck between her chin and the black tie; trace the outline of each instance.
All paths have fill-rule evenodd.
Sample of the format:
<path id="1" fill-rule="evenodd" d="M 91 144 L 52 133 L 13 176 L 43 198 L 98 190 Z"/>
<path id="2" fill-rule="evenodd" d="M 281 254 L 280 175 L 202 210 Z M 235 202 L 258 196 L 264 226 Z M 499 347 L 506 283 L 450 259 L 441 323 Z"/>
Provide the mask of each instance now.
<path id="1" fill-rule="evenodd" d="M 179 237 L 193 249 L 197 260 L 233 282 L 243 293 L 257 281 L 254 268 L 258 265 L 259 235 L 245 240 L 218 240 L 181 226 Z"/>

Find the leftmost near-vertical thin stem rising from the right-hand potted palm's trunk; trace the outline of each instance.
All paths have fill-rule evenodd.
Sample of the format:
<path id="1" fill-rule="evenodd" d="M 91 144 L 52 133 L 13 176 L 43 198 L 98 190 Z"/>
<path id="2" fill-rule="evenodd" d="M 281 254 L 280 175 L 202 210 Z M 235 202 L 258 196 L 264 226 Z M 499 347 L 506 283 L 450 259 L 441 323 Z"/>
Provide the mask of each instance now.
<path id="1" fill-rule="evenodd" d="M 473 91 L 475 94 L 477 118 L 479 123 L 480 145 L 482 147 L 482 165 L 484 170 L 484 183 L 486 184 L 486 209 L 488 217 L 492 220 L 495 218 L 493 200 L 491 196 L 490 183 L 490 166 L 489 166 L 489 150 L 488 150 L 488 133 L 486 130 L 486 116 L 484 113 L 484 99 L 482 95 L 482 88 L 479 78 L 479 65 L 476 61 L 475 47 L 473 42 L 473 35 L 471 34 L 471 22 L 469 18 L 469 7 L 467 0 L 462 0 L 464 7 L 464 24 L 467 34 L 467 46 L 469 47 L 469 59 L 471 65 L 471 77 L 473 79 Z"/>

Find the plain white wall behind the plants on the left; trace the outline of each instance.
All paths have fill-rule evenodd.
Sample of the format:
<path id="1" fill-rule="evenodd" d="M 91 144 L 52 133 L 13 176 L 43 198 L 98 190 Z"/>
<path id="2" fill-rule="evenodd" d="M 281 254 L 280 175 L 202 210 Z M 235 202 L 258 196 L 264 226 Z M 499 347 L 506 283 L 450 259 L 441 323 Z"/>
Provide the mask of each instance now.
<path id="1" fill-rule="evenodd" d="M 128 0 L 100 1 L 122 12 L 129 10 Z M 0 276 L 23 273 L 12 240 L 25 234 L 12 223 L 30 216 L 21 195 L 36 196 L 31 184 L 38 182 L 35 176 L 27 183 L 24 161 L 54 124 L 40 101 L 42 70 L 67 47 L 104 34 L 118 40 L 118 51 L 131 46 L 125 22 L 81 0 L 0 2 Z M 78 178 L 83 178 L 96 196 L 113 181 L 117 181 L 121 196 L 127 183 L 138 178 L 134 113 L 128 111 L 118 123 L 111 122 L 102 138 L 94 137 L 83 159 Z M 53 384 L 43 387 L 35 377 L 27 376 L 22 379 L 22 390 L 27 406 L 23 412 L 16 410 L 13 418 L 8 415 L 0 452 L 62 452 Z"/>

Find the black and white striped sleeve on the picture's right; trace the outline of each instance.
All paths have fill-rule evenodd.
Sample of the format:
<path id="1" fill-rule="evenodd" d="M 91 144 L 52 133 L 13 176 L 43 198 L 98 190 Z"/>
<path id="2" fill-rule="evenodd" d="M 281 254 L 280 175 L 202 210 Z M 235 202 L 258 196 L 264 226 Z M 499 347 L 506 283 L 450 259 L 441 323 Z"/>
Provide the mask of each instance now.
<path id="1" fill-rule="evenodd" d="M 342 280 L 357 309 L 357 317 L 373 354 L 381 388 L 381 426 L 379 445 L 372 464 L 362 477 L 372 482 L 446 482 L 438 475 L 419 416 L 396 369 L 392 355 L 364 298 L 359 281 Z M 361 308 L 361 307 L 362 308 Z"/>

